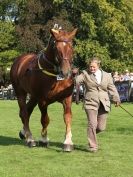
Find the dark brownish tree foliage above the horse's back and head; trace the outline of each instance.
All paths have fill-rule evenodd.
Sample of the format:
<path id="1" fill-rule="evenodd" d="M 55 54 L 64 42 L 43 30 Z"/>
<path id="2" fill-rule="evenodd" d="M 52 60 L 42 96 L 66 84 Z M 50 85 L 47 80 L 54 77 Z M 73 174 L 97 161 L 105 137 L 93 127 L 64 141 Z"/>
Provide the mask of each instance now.
<path id="1" fill-rule="evenodd" d="M 49 31 L 55 23 L 65 29 L 72 27 L 65 9 L 59 10 L 52 0 L 20 1 L 17 6 L 16 31 L 20 48 L 24 51 L 39 51 L 45 48 L 50 37 Z M 60 11 L 60 12 L 59 12 Z"/>

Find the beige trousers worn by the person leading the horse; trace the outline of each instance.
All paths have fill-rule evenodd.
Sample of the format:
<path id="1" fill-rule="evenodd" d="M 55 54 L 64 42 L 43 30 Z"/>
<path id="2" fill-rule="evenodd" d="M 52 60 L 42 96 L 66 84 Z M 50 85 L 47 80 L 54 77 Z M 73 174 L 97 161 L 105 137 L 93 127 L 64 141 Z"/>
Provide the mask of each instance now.
<path id="1" fill-rule="evenodd" d="M 88 118 L 87 136 L 89 148 L 97 150 L 98 142 L 96 134 L 105 130 L 108 112 L 105 111 L 102 103 L 100 104 L 98 111 L 93 109 L 86 109 L 85 111 Z"/>

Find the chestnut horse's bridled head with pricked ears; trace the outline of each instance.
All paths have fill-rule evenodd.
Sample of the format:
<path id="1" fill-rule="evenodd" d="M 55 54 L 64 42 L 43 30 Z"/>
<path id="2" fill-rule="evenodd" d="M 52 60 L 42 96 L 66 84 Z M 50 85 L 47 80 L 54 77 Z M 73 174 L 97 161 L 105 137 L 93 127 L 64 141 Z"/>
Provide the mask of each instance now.
<path id="1" fill-rule="evenodd" d="M 71 76 L 73 59 L 72 40 L 76 32 L 77 29 L 74 29 L 72 32 L 51 29 L 51 34 L 55 41 L 56 60 L 59 64 L 60 72 L 65 78 Z"/>

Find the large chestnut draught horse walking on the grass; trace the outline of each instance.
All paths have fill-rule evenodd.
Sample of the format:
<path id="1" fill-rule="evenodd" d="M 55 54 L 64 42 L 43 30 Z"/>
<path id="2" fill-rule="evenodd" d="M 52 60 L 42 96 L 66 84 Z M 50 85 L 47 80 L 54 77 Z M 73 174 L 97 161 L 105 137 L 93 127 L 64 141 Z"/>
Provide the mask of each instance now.
<path id="1" fill-rule="evenodd" d="M 64 108 L 64 122 L 66 125 L 64 151 L 73 149 L 71 133 L 71 104 L 74 82 L 72 78 L 72 40 L 77 29 L 72 32 L 51 29 L 51 38 L 45 52 L 30 53 L 18 57 L 10 72 L 11 82 L 14 87 L 20 118 L 23 129 L 19 136 L 25 139 L 27 146 L 34 147 L 29 119 L 34 107 L 38 104 L 41 112 L 41 140 L 47 146 L 49 139 L 47 127 L 49 116 L 48 105 L 58 101 Z M 27 101 L 27 95 L 29 100 Z"/>

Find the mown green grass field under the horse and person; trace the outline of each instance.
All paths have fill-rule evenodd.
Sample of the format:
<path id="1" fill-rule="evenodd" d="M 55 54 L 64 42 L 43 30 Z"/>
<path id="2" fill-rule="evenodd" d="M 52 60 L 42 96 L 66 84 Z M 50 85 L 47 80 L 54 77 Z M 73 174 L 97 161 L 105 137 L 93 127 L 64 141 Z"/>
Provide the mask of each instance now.
<path id="1" fill-rule="evenodd" d="M 133 114 L 133 104 L 122 104 Z M 82 104 L 73 103 L 72 133 L 75 150 L 62 151 L 65 124 L 62 105 L 50 105 L 46 148 L 28 148 L 18 137 L 22 128 L 16 101 L 0 101 L 0 177 L 133 177 L 133 118 L 112 106 L 107 129 L 98 135 L 100 150 L 87 148 L 86 115 Z M 30 121 L 36 140 L 40 137 L 40 112 L 36 107 Z"/>

